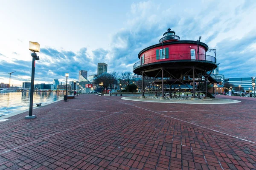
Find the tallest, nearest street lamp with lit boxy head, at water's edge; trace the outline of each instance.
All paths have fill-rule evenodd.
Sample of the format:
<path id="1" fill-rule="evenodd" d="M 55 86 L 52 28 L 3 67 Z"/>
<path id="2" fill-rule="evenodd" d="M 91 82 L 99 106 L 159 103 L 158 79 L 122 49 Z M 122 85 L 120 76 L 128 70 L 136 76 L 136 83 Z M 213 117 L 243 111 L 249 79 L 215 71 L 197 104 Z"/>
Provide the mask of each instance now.
<path id="1" fill-rule="evenodd" d="M 36 52 L 40 52 L 40 45 L 38 42 L 29 41 L 29 50 L 32 51 L 32 71 L 31 71 L 31 85 L 30 85 L 30 101 L 29 101 L 29 116 L 25 116 L 25 119 L 34 119 L 36 116 L 33 116 L 33 95 L 34 95 L 34 80 L 35 80 L 35 60 L 39 60 L 39 56 L 36 55 Z"/>

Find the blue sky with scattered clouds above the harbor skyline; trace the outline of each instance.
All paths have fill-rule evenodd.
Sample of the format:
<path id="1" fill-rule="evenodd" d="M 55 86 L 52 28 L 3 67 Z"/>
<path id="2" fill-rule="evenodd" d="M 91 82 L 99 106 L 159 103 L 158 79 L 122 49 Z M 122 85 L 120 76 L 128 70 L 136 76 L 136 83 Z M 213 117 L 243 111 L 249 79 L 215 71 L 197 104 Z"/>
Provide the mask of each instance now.
<path id="1" fill-rule="evenodd" d="M 256 76 L 255 0 L 0 0 L 0 82 L 31 79 L 29 41 L 38 42 L 35 83 L 133 71 L 138 53 L 157 44 L 169 25 L 180 40 L 216 49 L 225 78 Z M 211 52 L 209 55 L 214 56 Z"/>

